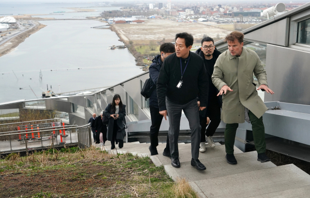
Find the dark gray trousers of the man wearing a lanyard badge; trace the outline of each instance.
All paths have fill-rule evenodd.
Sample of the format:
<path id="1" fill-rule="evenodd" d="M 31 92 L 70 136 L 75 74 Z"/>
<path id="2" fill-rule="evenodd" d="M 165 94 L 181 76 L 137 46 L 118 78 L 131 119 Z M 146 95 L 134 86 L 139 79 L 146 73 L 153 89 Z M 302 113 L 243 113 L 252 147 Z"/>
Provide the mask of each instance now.
<path id="1" fill-rule="evenodd" d="M 199 146 L 201 138 L 201 126 L 199 123 L 199 108 L 197 99 L 193 99 L 190 102 L 181 105 L 170 102 L 166 99 L 167 113 L 169 116 L 169 143 L 172 159 L 179 157 L 178 139 L 180 132 L 180 121 L 182 110 L 189 122 L 189 128 L 191 131 L 191 151 L 192 158 L 197 160 L 199 157 Z"/>

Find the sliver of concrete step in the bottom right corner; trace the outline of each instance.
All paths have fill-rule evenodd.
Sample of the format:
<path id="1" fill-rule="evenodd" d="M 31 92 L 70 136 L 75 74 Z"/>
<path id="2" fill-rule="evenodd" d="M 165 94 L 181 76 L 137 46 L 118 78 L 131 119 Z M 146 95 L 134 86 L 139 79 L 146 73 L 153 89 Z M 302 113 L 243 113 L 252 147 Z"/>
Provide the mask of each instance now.
<path id="1" fill-rule="evenodd" d="M 310 197 L 310 185 L 306 185 L 302 187 L 290 188 L 287 190 L 254 196 L 250 198 L 309 198 L 309 197 Z"/>

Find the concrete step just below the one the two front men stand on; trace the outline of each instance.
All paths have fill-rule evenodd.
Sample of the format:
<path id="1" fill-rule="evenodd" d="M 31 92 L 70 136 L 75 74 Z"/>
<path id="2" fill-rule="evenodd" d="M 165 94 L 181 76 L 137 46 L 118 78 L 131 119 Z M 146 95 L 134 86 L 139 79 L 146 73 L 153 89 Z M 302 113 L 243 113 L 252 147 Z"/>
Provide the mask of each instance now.
<path id="1" fill-rule="evenodd" d="M 217 143 L 219 144 L 219 143 Z M 163 156 L 164 148 L 157 148 L 158 155 L 155 155 L 152 158 L 158 158 L 154 159 L 154 161 L 159 161 L 162 165 L 170 165 L 171 159 Z M 239 148 L 234 147 L 234 154 L 237 153 L 243 153 Z M 213 157 L 219 157 L 224 156 L 225 159 L 226 151 L 225 151 L 225 145 L 217 145 L 215 148 L 211 148 L 208 145 L 206 145 L 206 151 L 204 153 L 199 153 L 199 160 L 202 159 L 210 159 Z M 180 163 L 182 162 L 190 162 L 192 159 L 191 154 L 191 144 L 185 144 L 179 146 L 179 157 L 180 157 Z M 153 159 L 152 159 L 153 160 Z M 154 163 L 155 165 L 158 165 L 158 163 Z"/>

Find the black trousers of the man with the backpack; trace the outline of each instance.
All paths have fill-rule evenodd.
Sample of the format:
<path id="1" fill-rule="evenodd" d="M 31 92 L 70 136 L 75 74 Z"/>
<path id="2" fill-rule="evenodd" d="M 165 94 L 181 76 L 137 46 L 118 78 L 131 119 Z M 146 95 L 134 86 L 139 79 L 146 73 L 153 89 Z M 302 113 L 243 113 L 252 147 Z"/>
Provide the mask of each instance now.
<path id="1" fill-rule="evenodd" d="M 153 106 L 150 106 L 150 113 L 151 113 L 151 121 L 152 121 L 152 125 L 150 128 L 151 149 L 155 150 L 155 152 L 157 152 L 157 150 L 155 148 L 158 146 L 158 133 L 159 133 L 161 121 L 163 120 L 164 116 L 160 115 L 159 109 L 156 107 L 153 107 Z M 170 145 L 169 145 L 169 136 L 168 135 L 167 135 L 167 144 L 166 144 L 165 151 L 170 153 Z"/>

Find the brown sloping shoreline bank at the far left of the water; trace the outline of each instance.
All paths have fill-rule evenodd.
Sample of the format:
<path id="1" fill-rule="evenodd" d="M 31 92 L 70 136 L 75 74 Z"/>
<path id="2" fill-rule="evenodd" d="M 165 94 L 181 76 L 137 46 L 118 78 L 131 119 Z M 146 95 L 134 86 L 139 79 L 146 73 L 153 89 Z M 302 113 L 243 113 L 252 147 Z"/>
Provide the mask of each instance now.
<path id="1" fill-rule="evenodd" d="M 15 36 L 12 39 L 9 39 L 5 43 L 3 43 L 0 47 L 0 57 L 10 53 L 13 49 L 15 49 L 19 44 L 25 41 L 26 38 L 28 38 L 31 34 L 38 32 L 42 28 L 46 27 L 46 25 L 43 25 L 39 23 L 38 21 L 33 21 L 33 23 L 37 23 L 35 27 L 31 28 L 28 31 L 25 31 L 17 36 Z"/>

